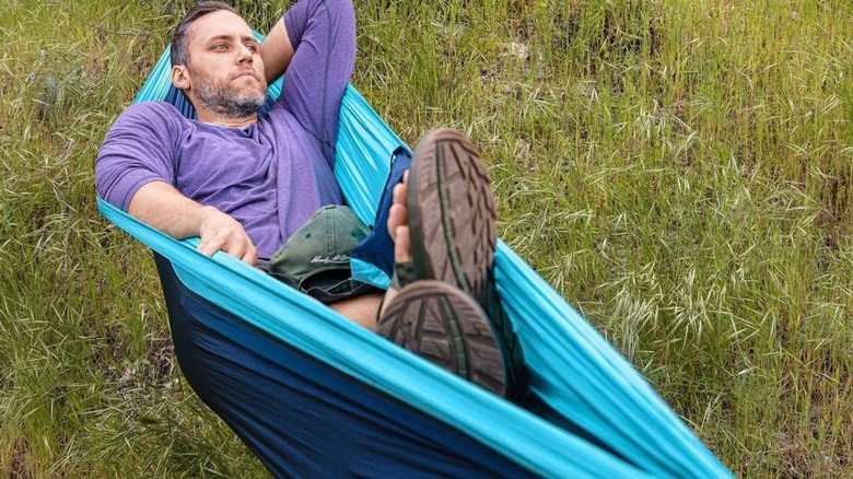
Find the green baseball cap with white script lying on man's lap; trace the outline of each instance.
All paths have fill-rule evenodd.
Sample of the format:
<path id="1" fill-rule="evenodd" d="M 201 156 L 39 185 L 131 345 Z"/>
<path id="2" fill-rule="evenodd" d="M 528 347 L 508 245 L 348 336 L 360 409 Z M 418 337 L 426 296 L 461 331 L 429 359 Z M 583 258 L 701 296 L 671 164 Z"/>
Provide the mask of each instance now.
<path id="1" fill-rule="evenodd" d="M 349 208 L 323 207 L 272 255 L 270 272 L 303 291 L 331 288 L 352 276 L 350 252 L 370 233 Z"/>

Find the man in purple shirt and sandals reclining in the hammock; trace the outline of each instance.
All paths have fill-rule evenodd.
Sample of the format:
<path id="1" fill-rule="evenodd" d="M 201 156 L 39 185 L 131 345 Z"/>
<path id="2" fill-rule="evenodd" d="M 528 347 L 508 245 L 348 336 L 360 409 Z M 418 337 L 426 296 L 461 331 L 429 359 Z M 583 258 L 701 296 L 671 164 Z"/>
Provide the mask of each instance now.
<path id="1" fill-rule="evenodd" d="M 322 207 L 343 203 L 332 167 L 354 56 L 349 0 L 299 1 L 262 44 L 231 7 L 197 5 L 175 30 L 172 81 L 198 119 L 159 102 L 131 106 L 98 153 L 98 194 L 174 237 L 199 236 L 206 255 L 267 265 L 330 214 Z M 285 71 L 281 96 L 259 118 L 268 83 Z M 478 156 L 458 132 L 425 136 L 388 212 L 394 285 L 384 294 L 355 289 L 329 305 L 509 396 L 517 361 L 504 351 L 511 330 L 491 280 L 494 200 Z"/>

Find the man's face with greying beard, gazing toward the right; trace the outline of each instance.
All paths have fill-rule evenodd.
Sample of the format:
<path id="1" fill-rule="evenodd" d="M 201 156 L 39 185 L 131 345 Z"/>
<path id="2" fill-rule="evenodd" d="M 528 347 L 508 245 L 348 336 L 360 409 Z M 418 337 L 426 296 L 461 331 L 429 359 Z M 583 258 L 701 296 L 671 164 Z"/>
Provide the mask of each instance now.
<path id="1" fill-rule="evenodd" d="M 191 26 L 188 49 L 187 93 L 196 102 L 230 118 L 244 118 L 260 109 L 267 98 L 264 62 L 243 19 L 225 10 L 198 19 Z"/>

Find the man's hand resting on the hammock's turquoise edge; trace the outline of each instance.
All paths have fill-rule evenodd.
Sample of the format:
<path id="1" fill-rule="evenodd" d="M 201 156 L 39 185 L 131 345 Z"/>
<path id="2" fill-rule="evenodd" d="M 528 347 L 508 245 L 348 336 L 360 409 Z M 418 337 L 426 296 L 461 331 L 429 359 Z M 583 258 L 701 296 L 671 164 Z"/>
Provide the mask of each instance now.
<path id="1" fill-rule="evenodd" d="M 223 250 L 249 265 L 258 260 L 255 245 L 236 220 L 213 207 L 201 207 L 197 214 L 201 218 L 198 232 L 201 238 L 198 244 L 199 252 L 212 256 Z"/>

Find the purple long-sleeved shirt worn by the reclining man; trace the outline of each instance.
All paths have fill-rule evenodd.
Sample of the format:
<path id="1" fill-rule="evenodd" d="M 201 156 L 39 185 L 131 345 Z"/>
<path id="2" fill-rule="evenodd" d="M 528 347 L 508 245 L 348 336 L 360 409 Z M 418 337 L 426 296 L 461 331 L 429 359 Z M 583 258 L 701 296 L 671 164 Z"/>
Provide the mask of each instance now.
<path id="1" fill-rule="evenodd" d="M 352 3 L 301 0 L 284 23 L 296 52 L 265 118 L 225 128 L 185 118 L 163 102 L 132 105 L 98 152 L 98 195 L 127 211 L 141 186 L 166 182 L 239 221 L 261 258 L 319 207 L 340 205 L 332 168 L 340 102 L 355 58 Z"/>

